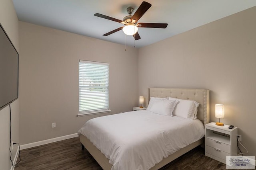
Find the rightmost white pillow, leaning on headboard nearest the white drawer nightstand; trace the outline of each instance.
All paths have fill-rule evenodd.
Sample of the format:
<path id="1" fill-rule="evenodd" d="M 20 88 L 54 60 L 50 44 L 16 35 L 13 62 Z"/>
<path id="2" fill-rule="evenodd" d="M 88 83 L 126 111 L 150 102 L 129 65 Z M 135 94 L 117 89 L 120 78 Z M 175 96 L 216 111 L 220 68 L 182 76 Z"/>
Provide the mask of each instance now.
<path id="1" fill-rule="evenodd" d="M 169 100 L 178 100 L 177 106 L 174 108 L 172 115 L 183 117 L 186 119 L 196 119 L 197 107 L 199 103 L 194 100 L 182 100 L 169 97 Z"/>

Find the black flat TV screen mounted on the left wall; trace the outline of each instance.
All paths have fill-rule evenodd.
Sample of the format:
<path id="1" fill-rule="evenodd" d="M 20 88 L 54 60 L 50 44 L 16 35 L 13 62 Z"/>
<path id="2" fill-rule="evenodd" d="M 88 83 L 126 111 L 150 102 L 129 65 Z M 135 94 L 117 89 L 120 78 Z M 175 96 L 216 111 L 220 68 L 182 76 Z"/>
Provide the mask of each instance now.
<path id="1" fill-rule="evenodd" d="M 0 24 L 0 110 L 18 98 L 18 52 Z"/>

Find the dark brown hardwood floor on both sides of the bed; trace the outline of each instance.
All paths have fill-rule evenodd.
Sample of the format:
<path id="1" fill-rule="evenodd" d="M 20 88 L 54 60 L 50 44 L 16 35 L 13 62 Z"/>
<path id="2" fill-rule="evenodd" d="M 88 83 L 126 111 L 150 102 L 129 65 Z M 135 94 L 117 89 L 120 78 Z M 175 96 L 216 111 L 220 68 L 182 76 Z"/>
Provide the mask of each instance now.
<path id="1" fill-rule="evenodd" d="M 81 150 L 79 137 L 20 151 L 15 170 L 102 170 L 90 153 Z M 160 170 L 225 170 L 226 165 L 204 156 L 196 147 Z"/>

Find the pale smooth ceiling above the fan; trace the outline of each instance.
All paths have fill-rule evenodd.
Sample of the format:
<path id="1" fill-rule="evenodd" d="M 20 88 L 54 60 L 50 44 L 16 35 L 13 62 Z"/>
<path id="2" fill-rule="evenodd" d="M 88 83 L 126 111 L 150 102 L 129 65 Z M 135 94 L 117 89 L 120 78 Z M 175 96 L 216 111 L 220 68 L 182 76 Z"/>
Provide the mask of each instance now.
<path id="1" fill-rule="evenodd" d="M 137 48 L 256 6 L 256 0 L 146 1 L 152 6 L 139 22 L 168 23 L 168 26 L 166 29 L 139 28 L 141 39 L 137 41 L 132 36 L 125 36 L 122 30 L 102 36 L 123 25 L 94 14 L 122 20 L 128 15 L 126 8 L 133 7 L 136 11 L 142 0 L 13 0 L 13 3 L 20 21 L 114 43 L 126 43 L 132 47 L 135 43 Z"/>

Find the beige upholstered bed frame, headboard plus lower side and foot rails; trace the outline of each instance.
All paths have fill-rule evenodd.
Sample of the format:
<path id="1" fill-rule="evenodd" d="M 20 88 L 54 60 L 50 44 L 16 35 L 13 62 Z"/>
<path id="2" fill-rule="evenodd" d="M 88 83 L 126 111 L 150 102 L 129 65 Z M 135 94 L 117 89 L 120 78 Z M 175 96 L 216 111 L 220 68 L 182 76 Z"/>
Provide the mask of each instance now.
<path id="1" fill-rule="evenodd" d="M 192 88 L 148 88 L 146 103 L 148 105 L 150 97 L 166 98 L 169 96 L 172 98 L 194 100 L 200 103 L 198 107 L 197 118 L 204 123 L 204 126 L 210 122 L 209 90 Z M 100 150 L 98 150 L 85 136 L 80 135 L 80 141 L 82 143 L 82 148 L 84 146 L 104 170 L 110 170 L 112 168 L 112 164 L 109 163 L 109 159 L 106 158 L 105 155 L 102 154 Z M 204 143 L 204 138 L 174 152 L 167 158 L 164 158 L 150 170 L 158 170 L 172 160 L 180 157 L 184 153 L 194 149 L 202 143 Z"/>

